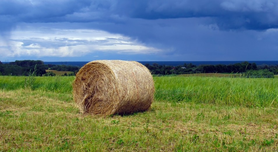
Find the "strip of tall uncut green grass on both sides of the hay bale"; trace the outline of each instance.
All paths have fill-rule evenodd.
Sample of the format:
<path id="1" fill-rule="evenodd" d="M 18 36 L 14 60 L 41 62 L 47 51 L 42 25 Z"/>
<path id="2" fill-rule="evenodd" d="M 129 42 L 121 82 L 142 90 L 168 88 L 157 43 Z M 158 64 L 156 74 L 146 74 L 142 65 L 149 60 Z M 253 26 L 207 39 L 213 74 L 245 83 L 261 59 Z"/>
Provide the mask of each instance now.
<path id="1" fill-rule="evenodd" d="M 0 89 L 24 88 L 25 77 L 0 76 Z M 67 93 L 75 77 L 36 77 L 33 88 Z M 278 107 L 278 79 L 154 77 L 155 99 L 247 107 Z"/>

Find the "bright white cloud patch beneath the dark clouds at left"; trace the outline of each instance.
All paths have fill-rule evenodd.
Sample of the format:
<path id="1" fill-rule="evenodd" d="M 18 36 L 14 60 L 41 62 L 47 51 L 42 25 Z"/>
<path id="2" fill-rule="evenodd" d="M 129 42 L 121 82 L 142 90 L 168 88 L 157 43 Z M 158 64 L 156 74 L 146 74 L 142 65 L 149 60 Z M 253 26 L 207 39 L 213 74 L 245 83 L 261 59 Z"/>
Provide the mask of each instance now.
<path id="1" fill-rule="evenodd" d="M 99 30 L 17 29 L 11 33 L 10 47 L 0 44 L 5 50 L 0 53 L 3 57 L 80 57 L 98 51 L 119 54 L 153 54 L 160 51 L 129 37 Z"/>

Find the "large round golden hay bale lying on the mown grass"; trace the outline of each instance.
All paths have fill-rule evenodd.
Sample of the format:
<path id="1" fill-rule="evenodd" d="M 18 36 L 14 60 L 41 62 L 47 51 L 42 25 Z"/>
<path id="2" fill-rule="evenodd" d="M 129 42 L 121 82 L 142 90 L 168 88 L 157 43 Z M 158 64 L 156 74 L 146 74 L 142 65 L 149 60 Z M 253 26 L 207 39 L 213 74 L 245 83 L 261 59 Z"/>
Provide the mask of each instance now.
<path id="1" fill-rule="evenodd" d="M 76 74 L 73 97 L 81 113 L 107 116 L 146 111 L 154 98 L 154 81 L 136 61 L 97 60 Z"/>

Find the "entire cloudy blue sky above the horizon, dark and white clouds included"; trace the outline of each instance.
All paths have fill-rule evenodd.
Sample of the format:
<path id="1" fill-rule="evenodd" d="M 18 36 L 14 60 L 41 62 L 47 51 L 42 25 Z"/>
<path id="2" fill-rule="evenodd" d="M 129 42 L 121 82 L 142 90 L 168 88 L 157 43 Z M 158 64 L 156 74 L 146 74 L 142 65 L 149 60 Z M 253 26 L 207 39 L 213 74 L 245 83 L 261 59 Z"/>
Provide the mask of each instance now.
<path id="1" fill-rule="evenodd" d="M 0 61 L 277 61 L 277 0 L 1 0 Z"/>

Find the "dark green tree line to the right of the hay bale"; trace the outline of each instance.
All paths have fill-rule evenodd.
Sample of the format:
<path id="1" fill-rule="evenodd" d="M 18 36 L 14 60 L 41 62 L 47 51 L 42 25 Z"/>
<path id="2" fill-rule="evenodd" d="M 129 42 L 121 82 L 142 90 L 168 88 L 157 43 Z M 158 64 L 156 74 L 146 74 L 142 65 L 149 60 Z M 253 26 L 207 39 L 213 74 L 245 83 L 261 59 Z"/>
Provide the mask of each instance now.
<path id="1" fill-rule="evenodd" d="M 170 75 L 170 74 L 190 74 L 190 73 L 245 73 L 248 77 L 273 77 L 278 74 L 278 65 L 268 66 L 259 65 L 256 63 L 249 63 L 247 61 L 242 63 L 235 63 L 231 65 L 193 65 L 192 63 L 180 66 L 159 65 L 157 63 L 145 64 L 145 66 L 154 75 Z M 248 75 L 247 75 L 248 74 Z"/>

